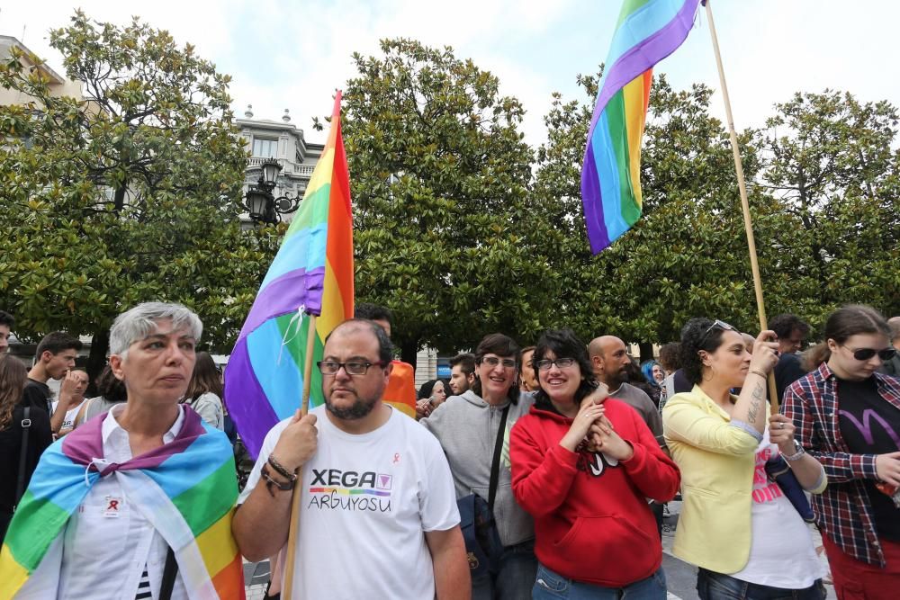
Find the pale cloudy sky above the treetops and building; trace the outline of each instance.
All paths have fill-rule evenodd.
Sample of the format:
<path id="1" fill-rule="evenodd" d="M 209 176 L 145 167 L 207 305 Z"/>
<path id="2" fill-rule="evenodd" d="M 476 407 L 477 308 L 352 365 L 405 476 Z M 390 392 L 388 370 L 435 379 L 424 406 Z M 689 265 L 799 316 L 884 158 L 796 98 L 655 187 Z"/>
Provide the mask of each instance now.
<path id="1" fill-rule="evenodd" d="M 900 7 L 887 0 L 713 0 L 738 129 L 761 127 L 774 103 L 797 91 L 826 87 L 851 91 L 861 101 L 900 104 L 900 80 L 884 76 L 894 54 Z M 144 22 L 190 42 L 218 70 L 233 76 L 237 116 L 252 103 L 256 118 L 279 119 L 284 109 L 307 137 L 311 118 L 327 114 L 334 88 L 354 76 L 351 54 L 377 54 L 378 40 L 408 37 L 429 46 L 450 45 L 461 58 L 500 78 L 501 92 L 516 96 L 527 113 L 523 131 L 536 146 L 545 139 L 543 116 L 554 91 L 580 92 L 576 75 L 597 72 L 606 58 L 617 0 L 222 0 L 135 5 L 94 0 L 85 12 L 125 25 L 138 13 Z M 47 31 L 67 25 L 74 4 L 37 0 L 0 9 L 0 33 L 61 65 Z M 688 41 L 657 68 L 675 89 L 693 83 L 718 88 L 709 28 L 700 14 Z M 715 94 L 712 113 L 723 118 Z"/>

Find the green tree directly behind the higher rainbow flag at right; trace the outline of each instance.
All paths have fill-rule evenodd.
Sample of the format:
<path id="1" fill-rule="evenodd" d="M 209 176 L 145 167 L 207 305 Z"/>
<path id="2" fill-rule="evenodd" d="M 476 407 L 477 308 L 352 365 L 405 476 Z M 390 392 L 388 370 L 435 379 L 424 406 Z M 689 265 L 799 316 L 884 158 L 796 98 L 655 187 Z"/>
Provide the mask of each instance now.
<path id="1" fill-rule="evenodd" d="M 734 162 L 722 123 L 709 114 L 711 90 L 671 89 L 657 76 L 651 93 L 641 161 L 644 216 L 625 236 L 590 255 L 581 209 L 581 161 L 597 76 L 581 76 L 586 99 L 554 96 L 546 115 L 547 143 L 538 149 L 535 193 L 554 214 L 555 269 L 563 273 L 563 304 L 554 326 L 585 338 L 678 339 L 692 317 L 730 318 L 754 328 L 750 261 Z M 741 136 L 744 169 L 758 168 L 756 150 Z M 757 235 L 773 207 L 754 195 Z"/>

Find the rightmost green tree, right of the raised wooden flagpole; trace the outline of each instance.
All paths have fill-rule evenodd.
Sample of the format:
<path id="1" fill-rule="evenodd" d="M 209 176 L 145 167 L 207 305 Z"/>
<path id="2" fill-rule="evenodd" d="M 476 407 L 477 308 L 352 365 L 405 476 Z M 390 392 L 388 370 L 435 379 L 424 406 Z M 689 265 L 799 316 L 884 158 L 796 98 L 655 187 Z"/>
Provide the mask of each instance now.
<path id="1" fill-rule="evenodd" d="M 821 324 L 848 302 L 900 312 L 900 188 L 896 107 L 825 90 L 776 105 L 759 133 L 761 185 L 784 226 L 777 276 L 798 312 Z"/>

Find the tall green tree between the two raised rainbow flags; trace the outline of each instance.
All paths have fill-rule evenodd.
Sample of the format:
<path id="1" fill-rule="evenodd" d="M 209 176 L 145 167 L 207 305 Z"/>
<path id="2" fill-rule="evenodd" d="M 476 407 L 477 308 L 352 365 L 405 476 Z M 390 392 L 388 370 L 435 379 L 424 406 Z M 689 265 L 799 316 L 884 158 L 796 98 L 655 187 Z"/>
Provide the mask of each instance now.
<path id="1" fill-rule="evenodd" d="M 473 347 L 540 327 L 558 278 L 528 200 L 523 109 L 450 48 L 384 40 L 354 54 L 344 134 L 356 228 L 356 297 L 391 308 L 405 360 L 420 345 Z"/>

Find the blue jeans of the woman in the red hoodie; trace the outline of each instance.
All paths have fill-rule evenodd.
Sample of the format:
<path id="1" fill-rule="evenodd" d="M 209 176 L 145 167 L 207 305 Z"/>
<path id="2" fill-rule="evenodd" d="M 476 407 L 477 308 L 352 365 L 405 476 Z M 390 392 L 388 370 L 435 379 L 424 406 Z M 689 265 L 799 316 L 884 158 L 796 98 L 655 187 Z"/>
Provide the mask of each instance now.
<path id="1" fill-rule="evenodd" d="M 571 600 L 666 600 L 666 574 L 662 567 L 649 578 L 635 581 L 626 587 L 601 587 L 564 578 L 537 566 L 537 580 L 531 597 L 535 600 L 571 598 Z"/>

